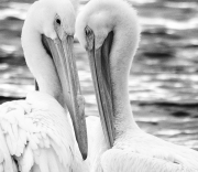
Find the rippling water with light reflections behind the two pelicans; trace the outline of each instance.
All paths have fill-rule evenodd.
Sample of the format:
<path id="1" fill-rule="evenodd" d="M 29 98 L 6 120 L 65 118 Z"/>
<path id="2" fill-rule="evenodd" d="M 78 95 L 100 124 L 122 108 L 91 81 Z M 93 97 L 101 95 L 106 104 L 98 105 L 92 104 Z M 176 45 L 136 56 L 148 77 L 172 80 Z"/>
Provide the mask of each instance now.
<path id="1" fill-rule="evenodd" d="M 80 9 L 87 1 L 81 1 Z M 132 0 L 142 41 L 130 76 L 136 121 L 150 133 L 198 149 L 198 2 Z M 0 103 L 33 90 L 20 43 L 29 3 L 0 4 Z M 86 52 L 75 43 L 86 115 L 98 115 Z"/>

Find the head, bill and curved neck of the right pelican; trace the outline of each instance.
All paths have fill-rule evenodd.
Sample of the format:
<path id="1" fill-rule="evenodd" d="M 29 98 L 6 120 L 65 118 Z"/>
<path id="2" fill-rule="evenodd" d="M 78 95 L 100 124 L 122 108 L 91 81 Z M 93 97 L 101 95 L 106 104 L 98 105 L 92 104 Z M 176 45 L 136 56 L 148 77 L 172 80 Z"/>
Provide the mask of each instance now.
<path id="1" fill-rule="evenodd" d="M 118 122 L 131 114 L 128 76 L 140 40 L 136 12 L 125 1 L 91 0 L 77 17 L 76 35 L 88 52 L 103 132 L 112 147 L 128 125 Z"/>

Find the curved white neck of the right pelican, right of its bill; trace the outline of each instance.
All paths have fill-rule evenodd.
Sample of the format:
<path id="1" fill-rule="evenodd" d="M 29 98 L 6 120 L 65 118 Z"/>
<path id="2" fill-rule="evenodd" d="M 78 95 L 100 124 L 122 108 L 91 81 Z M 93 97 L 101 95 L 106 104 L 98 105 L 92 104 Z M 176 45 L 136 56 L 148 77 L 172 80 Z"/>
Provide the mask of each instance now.
<path id="1" fill-rule="evenodd" d="M 140 39 L 139 24 L 133 15 L 130 22 L 123 19 L 118 21 L 110 53 L 116 138 L 129 129 L 139 128 L 131 110 L 128 88 L 130 67 Z"/>

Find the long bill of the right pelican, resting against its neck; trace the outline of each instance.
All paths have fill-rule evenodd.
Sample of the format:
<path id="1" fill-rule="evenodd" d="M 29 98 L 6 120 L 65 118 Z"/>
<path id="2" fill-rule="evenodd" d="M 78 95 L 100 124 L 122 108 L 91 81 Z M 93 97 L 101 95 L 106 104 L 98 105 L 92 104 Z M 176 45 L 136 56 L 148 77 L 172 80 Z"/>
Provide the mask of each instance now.
<path id="1" fill-rule="evenodd" d="M 106 140 L 109 148 L 111 148 L 114 142 L 114 118 L 109 56 L 113 40 L 113 32 L 109 33 L 102 46 L 97 50 L 95 47 L 95 34 L 88 26 L 86 28 L 86 39 L 101 125 Z"/>

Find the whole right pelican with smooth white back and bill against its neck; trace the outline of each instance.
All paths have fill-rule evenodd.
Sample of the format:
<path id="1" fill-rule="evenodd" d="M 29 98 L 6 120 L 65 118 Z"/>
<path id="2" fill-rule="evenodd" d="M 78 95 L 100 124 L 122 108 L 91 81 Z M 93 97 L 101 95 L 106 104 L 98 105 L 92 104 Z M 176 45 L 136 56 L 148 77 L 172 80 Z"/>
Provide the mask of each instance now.
<path id="1" fill-rule="evenodd" d="M 144 132 L 133 118 L 128 77 L 140 41 L 135 10 L 122 0 L 91 0 L 77 17 L 76 35 L 88 52 L 103 147 L 110 147 L 94 171 L 198 171 L 197 151 Z"/>

